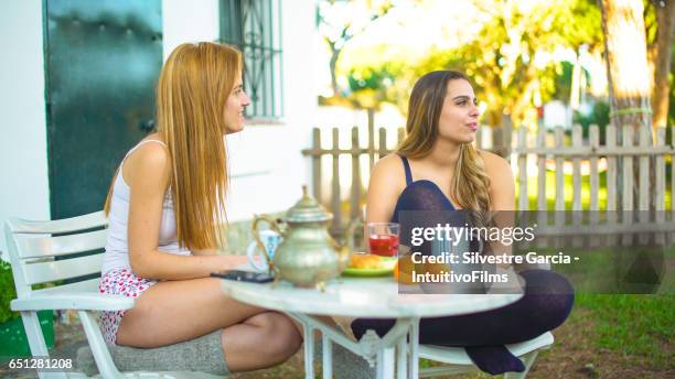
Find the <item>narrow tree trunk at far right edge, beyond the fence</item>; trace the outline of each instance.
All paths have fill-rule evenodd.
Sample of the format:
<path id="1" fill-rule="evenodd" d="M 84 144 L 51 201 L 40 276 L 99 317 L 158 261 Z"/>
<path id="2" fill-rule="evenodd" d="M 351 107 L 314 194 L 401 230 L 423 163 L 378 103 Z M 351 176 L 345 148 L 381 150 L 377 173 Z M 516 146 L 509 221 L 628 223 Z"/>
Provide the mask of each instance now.
<path id="1" fill-rule="evenodd" d="M 671 43 L 675 32 L 675 1 L 654 4 L 656 8 L 656 56 L 654 59 L 654 130 L 665 128 L 668 121 L 668 94 L 671 85 Z"/>

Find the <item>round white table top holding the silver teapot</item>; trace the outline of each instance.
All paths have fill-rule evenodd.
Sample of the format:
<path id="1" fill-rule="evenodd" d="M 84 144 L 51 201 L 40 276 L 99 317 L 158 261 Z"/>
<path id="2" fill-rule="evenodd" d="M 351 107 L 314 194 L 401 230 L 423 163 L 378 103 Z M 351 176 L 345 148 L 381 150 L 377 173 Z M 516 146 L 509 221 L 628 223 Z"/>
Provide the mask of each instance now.
<path id="1" fill-rule="evenodd" d="M 326 282 L 324 291 L 291 283 L 223 280 L 223 291 L 243 302 L 275 311 L 314 315 L 398 318 L 433 317 L 497 308 L 522 294 L 399 294 L 392 277 L 346 278 Z"/>

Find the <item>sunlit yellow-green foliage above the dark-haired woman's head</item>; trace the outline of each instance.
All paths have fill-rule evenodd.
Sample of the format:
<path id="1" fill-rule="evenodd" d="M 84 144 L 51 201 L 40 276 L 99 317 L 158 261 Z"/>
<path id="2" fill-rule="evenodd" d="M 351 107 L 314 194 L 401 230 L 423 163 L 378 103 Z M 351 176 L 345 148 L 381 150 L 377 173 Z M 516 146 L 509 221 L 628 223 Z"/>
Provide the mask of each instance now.
<path id="1" fill-rule="evenodd" d="M 362 77 L 387 73 L 395 77 L 382 98 L 404 111 L 414 82 L 435 69 L 459 69 L 475 85 L 488 105 L 484 121 L 514 124 L 536 121 L 535 104 L 556 93 L 561 65 L 553 57 L 561 47 L 589 52 L 602 48 L 600 10 L 592 0 L 474 1 L 482 28 L 474 39 L 452 50 L 430 48 L 420 62 L 383 62 L 378 67 L 354 67 Z M 379 74 L 377 74 L 379 75 Z"/>

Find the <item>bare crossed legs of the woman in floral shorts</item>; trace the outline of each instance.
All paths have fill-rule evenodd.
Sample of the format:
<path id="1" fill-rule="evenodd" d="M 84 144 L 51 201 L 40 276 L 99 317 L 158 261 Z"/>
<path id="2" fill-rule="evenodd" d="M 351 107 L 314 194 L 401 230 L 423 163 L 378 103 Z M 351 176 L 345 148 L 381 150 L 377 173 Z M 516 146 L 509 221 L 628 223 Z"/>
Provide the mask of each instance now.
<path id="1" fill-rule="evenodd" d="M 223 349 L 233 371 L 269 367 L 298 350 L 301 337 L 288 317 L 228 297 L 221 285 L 215 278 L 152 285 L 125 314 L 117 343 L 159 347 L 225 329 Z"/>

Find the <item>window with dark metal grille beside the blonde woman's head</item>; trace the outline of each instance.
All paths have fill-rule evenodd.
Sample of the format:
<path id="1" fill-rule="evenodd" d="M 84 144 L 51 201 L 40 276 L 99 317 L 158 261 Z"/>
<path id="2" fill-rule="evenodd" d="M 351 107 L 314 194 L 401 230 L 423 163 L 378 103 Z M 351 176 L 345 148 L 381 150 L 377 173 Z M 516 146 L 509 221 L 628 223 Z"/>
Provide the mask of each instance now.
<path id="1" fill-rule="evenodd" d="M 246 117 L 283 116 L 281 80 L 281 6 L 279 0 L 221 0 L 221 41 L 244 55 L 244 89 L 250 97 Z"/>

